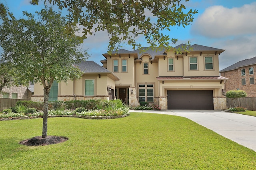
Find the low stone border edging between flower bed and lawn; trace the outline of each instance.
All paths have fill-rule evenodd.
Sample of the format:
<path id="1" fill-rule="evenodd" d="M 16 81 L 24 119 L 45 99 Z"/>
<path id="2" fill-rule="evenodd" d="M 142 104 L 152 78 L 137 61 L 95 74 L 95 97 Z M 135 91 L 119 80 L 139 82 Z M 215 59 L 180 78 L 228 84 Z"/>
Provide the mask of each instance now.
<path id="1" fill-rule="evenodd" d="M 130 115 L 130 114 L 128 114 Z M 126 117 L 128 115 L 117 115 L 117 116 L 82 116 L 82 115 L 48 115 L 49 117 L 77 117 L 82 119 L 116 119 L 121 117 Z M 17 117 L 0 117 L 0 121 L 7 120 L 24 120 L 24 119 L 37 119 L 43 116 L 17 116 Z"/>

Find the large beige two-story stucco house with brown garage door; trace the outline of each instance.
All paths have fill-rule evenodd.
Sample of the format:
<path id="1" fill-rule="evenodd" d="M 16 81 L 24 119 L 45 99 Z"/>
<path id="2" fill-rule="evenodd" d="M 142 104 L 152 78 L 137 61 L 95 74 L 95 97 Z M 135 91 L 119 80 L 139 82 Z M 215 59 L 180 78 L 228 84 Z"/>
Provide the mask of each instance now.
<path id="1" fill-rule="evenodd" d="M 180 44 L 174 48 L 184 46 Z M 129 106 L 139 102 L 166 109 L 226 109 L 218 56 L 225 50 L 191 45 L 192 51 L 120 49 L 101 61 L 80 63 L 79 80 L 55 84 L 55 100 L 121 99 Z M 52 88 L 54 89 L 54 87 Z M 51 92 L 50 94 L 53 94 Z M 43 88 L 35 84 L 32 100 L 43 100 Z"/>

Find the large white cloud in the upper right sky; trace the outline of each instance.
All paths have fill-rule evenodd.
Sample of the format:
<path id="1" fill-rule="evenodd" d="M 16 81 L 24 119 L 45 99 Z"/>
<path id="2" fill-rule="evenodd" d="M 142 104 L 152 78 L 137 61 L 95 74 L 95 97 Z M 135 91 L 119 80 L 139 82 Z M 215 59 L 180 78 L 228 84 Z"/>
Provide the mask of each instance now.
<path id="1" fill-rule="evenodd" d="M 240 8 L 211 6 L 192 24 L 192 33 L 206 37 L 226 37 L 256 33 L 256 2 Z"/>

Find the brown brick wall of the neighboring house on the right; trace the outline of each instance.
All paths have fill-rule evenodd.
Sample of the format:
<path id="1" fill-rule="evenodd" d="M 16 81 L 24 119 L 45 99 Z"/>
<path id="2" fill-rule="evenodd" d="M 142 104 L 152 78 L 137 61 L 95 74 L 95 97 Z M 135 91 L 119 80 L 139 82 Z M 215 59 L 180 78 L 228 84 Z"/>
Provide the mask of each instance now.
<path id="1" fill-rule="evenodd" d="M 249 75 L 249 68 L 253 67 L 254 74 Z M 245 76 L 241 75 L 241 69 L 245 69 Z M 225 91 L 229 90 L 244 90 L 248 97 L 256 97 L 256 64 L 250 66 L 240 67 L 236 70 L 230 70 L 220 73 L 221 76 L 229 78 L 225 81 Z M 254 84 L 250 84 L 250 79 L 254 78 Z M 242 85 L 242 78 L 245 78 L 246 85 Z"/>

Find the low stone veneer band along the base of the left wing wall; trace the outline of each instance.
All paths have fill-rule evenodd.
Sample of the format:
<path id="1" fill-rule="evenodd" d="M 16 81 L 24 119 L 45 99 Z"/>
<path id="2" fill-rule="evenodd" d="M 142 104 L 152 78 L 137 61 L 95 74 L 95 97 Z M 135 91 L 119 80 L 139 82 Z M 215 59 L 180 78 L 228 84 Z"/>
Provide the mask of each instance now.
<path id="1" fill-rule="evenodd" d="M 109 96 L 58 96 L 58 101 L 71 101 L 71 100 L 109 100 Z M 34 102 L 44 102 L 44 96 L 32 96 Z"/>

